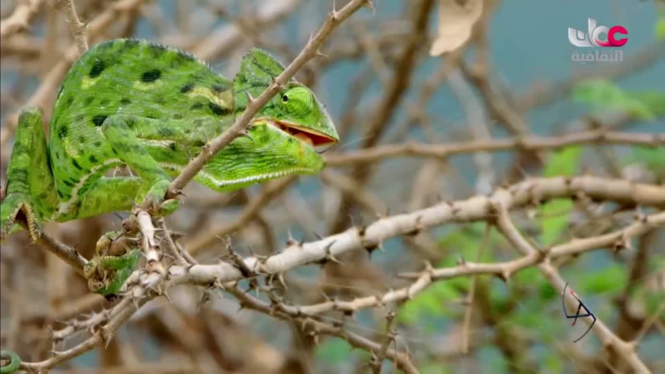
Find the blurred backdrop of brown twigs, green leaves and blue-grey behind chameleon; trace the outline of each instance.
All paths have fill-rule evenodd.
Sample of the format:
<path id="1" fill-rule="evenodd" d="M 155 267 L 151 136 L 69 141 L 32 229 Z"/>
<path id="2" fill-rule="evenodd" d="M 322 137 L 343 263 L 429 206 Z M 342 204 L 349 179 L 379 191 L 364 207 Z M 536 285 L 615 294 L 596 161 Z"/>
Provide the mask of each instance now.
<path id="1" fill-rule="evenodd" d="M 60 82 L 78 55 L 59 3 L 0 3 L 3 184 L 18 110 L 37 105 L 48 121 Z M 333 6 L 328 0 L 74 3 L 90 46 L 116 37 L 152 39 L 190 51 L 229 78 L 252 46 L 285 64 L 293 60 Z M 335 6 L 346 3 L 337 0 Z M 585 48 L 571 45 L 567 30 L 586 31 L 588 18 L 628 30 L 623 61 L 571 60 Z M 446 53 L 430 53 L 437 40 Z M 665 132 L 663 1 L 377 0 L 373 10 L 361 9 L 339 26 L 323 53 L 327 57 L 310 62 L 296 79 L 326 104 L 341 136 L 324 154 L 328 168 L 319 176 L 228 194 L 190 184 L 184 207 L 166 222 L 182 233 L 178 242 L 199 262 L 215 262 L 229 253 L 229 244 L 242 256 L 277 253 L 290 238 L 315 241 L 441 200 L 487 195 L 527 177 L 590 174 L 664 184 L 662 143 L 491 152 L 479 146 L 452 155 L 397 152 L 371 161 L 353 153 L 407 143 L 552 140 L 599 129 Z M 514 212 L 513 220 L 547 247 L 621 229 L 634 208 L 560 199 Z M 46 224 L 44 230 L 91 258 L 100 235 L 118 229 L 126 216 Z M 423 269 L 423 260 L 450 267 L 460 258 L 499 262 L 519 256 L 497 231 L 485 231 L 484 222 L 457 222 L 396 236 L 371 256 L 358 250 L 339 258 L 341 264 L 292 269 L 279 294 L 296 305 L 352 300 L 406 287 L 411 281 L 398 273 Z M 626 341 L 639 337 L 637 353 L 653 373 L 665 372 L 662 227 L 623 251 L 589 251 L 556 265 L 614 334 Z M 2 244 L 0 270 L 1 346 L 24 361 L 76 346 L 89 337 L 89 326 L 73 321 L 114 305 L 89 294 L 82 277 L 30 244 L 25 232 Z M 240 287 L 247 289 L 247 281 Z M 170 302 L 160 297 L 143 305 L 107 346 L 51 373 L 378 372 L 371 364 L 377 353 L 339 337 L 311 335 L 295 321 L 240 309 L 227 292 L 179 286 L 169 296 Z M 461 276 L 433 283 L 408 301 L 319 317 L 408 352 L 421 373 L 630 372 L 593 332 L 573 343 L 587 326 L 570 326 L 560 293 L 535 267 L 507 283 L 489 275 Z M 64 328 L 71 333 L 54 340 L 52 331 Z M 397 369 L 386 358 L 378 370 Z"/>

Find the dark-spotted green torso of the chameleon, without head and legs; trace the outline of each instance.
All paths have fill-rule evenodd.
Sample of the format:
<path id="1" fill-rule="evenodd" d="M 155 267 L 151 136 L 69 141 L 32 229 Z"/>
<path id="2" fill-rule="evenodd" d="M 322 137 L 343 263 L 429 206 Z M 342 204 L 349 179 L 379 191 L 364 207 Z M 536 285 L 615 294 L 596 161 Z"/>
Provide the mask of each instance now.
<path id="1" fill-rule="evenodd" d="M 136 123 L 132 130 L 154 159 L 183 166 L 233 122 L 232 82 L 188 53 L 145 40 L 110 40 L 82 55 L 62 83 L 51 119 L 60 220 L 75 214 L 72 205 L 96 179 L 123 164 L 101 131 L 114 114 L 163 123 L 157 131 L 127 125 Z"/>

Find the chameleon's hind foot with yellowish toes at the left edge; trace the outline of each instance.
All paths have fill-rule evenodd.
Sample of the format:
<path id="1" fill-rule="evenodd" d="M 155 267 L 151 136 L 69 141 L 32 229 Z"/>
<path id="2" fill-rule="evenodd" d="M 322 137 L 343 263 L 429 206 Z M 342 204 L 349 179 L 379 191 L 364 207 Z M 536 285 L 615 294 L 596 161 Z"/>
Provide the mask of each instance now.
<path id="1" fill-rule="evenodd" d="M 21 224 L 17 222 L 17 218 L 21 219 L 21 216 L 28 224 L 30 238 L 34 242 L 39 240 L 41 228 L 33 210 L 32 199 L 23 193 L 8 195 L 0 205 L 0 240 L 6 240 L 10 234 L 22 229 Z"/>

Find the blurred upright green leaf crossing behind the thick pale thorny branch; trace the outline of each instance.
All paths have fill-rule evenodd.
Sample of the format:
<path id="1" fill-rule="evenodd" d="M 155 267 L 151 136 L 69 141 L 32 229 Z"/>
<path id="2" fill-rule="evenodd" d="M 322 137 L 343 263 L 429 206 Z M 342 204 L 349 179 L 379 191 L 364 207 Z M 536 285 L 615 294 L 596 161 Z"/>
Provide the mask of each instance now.
<path id="1" fill-rule="evenodd" d="M 571 177 L 577 171 L 582 155 L 579 145 L 563 148 L 550 155 L 544 167 L 545 177 Z M 568 226 L 568 213 L 573 208 L 569 199 L 553 199 L 541 208 L 542 213 L 542 244 L 549 246 L 556 242 Z"/>

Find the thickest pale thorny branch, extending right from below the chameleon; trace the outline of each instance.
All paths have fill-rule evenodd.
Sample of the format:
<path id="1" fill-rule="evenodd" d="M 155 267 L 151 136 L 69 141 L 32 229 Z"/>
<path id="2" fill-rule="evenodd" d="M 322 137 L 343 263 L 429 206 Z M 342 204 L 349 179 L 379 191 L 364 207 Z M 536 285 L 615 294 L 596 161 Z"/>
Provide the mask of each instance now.
<path id="1" fill-rule="evenodd" d="M 251 269 L 256 274 L 280 274 L 300 265 L 333 260 L 336 256 L 355 249 L 374 249 L 383 240 L 396 235 L 417 233 L 450 222 L 488 220 L 495 215 L 493 206 L 497 201 L 506 208 L 517 208 L 541 204 L 549 199 L 579 195 L 623 204 L 661 208 L 665 206 L 665 186 L 634 184 L 621 179 L 598 177 L 535 178 L 499 188 L 490 196 L 478 195 L 456 202 L 441 202 L 411 213 L 385 217 L 366 227 L 352 227 L 316 242 L 292 241 L 281 253 L 274 256 L 265 259 L 256 256 L 245 258 L 242 267 Z M 192 267 L 173 266 L 170 267 L 170 276 L 173 285 L 210 285 L 238 281 L 246 277 L 241 269 L 227 262 Z"/>

